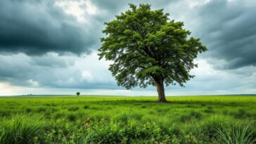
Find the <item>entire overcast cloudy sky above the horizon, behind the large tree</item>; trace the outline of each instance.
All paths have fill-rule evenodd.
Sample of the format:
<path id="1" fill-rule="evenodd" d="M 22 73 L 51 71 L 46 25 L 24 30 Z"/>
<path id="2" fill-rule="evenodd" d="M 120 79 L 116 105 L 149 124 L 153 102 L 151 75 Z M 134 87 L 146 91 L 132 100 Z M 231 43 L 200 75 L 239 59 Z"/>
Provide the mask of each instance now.
<path id="1" fill-rule="evenodd" d="M 209 50 L 196 59 L 196 77 L 184 88 L 168 86 L 167 95 L 256 93 L 255 0 L 1 0 L 0 96 L 157 95 L 152 86 L 117 86 L 110 62 L 98 60 L 103 22 L 128 3 L 164 8 Z"/>

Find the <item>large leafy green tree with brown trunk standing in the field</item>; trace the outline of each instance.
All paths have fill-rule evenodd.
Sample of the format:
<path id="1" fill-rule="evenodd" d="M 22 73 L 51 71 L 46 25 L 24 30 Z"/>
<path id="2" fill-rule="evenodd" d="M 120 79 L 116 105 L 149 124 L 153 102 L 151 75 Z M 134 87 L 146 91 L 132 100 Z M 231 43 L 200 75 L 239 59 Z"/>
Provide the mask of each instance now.
<path id="1" fill-rule="evenodd" d="M 189 74 L 197 67 L 194 59 L 207 51 L 200 39 L 188 35 L 183 22 L 169 20 L 163 9 L 151 11 L 151 5 L 140 4 L 105 22 L 105 37 L 98 49 L 99 59 L 113 60 L 109 70 L 118 86 L 157 87 L 158 101 L 166 102 L 164 86 L 184 83 L 195 77 Z"/>

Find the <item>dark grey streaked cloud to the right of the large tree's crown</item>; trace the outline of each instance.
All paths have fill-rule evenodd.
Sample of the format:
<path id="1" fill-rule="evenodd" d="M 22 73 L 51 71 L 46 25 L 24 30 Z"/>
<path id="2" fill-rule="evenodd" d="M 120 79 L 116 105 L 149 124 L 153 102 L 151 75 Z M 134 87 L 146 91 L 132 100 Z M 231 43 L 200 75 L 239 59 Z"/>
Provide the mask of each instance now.
<path id="1" fill-rule="evenodd" d="M 217 0 L 198 7 L 196 35 L 207 45 L 207 57 L 222 59 L 222 69 L 256 65 L 256 6 L 246 1 Z"/>

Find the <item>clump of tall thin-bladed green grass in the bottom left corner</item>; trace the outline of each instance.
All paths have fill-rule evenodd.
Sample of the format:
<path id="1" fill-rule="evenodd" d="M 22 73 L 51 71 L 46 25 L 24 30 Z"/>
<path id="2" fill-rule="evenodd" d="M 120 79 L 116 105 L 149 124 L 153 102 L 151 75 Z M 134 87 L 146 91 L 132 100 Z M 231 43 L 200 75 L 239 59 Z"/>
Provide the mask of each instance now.
<path id="1" fill-rule="evenodd" d="M 44 132 L 45 123 L 37 116 L 14 115 L 0 122 L 0 143 L 34 143 L 36 137 Z"/>

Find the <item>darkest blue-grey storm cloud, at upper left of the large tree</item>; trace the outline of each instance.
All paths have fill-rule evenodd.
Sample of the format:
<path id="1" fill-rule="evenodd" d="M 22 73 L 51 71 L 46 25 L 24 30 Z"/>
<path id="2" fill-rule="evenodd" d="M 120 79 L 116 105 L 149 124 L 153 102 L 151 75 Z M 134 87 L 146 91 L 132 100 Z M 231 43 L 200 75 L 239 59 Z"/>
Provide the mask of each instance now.
<path id="1" fill-rule="evenodd" d="M 0 52 L 88 53 L 98 41 L 95 29 L 66 15 L 54 1 L 1 0 L 0 20 Z"/>

